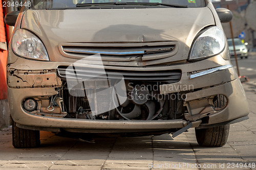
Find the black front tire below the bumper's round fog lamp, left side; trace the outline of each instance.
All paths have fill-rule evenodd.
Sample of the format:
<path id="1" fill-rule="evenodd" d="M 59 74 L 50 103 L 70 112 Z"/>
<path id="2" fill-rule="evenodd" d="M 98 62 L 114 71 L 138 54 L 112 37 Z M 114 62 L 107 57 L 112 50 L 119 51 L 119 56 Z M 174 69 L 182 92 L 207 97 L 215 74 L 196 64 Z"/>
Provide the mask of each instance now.
<path id="1" fill-rule="evenodd" d="M 14 148 L 39 147 L 40 131 L 19 128 L 12 121 L 12 145 Z"/>

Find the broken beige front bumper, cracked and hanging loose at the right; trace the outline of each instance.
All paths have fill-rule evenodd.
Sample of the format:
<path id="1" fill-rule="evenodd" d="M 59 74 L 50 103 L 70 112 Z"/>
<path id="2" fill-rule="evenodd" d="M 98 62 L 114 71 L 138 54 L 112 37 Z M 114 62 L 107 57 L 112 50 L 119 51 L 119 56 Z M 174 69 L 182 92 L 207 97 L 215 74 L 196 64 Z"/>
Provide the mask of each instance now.
<path id="1" fill-rule="evenodd" d="M 25 111 L 22 106 L 25 99 L 52 96 L 58 93 L 56 88 L 61 87 L 62 84 L 57 76 L 57 66 L 70 64 L 33 60 L 28 62 L 27 59 L 18 58 L 15 63 L 8 65 L 9 104 L 12 118 L 17 125 L 41 127 L 41 129 L 61 128 L 68 131 L 140 132 L 183 128 L 189 122 L 193 123 L 193 127 L 200 128 L 200 124 L 207 126 L 224 123 L 245 117 L 249 113 L 242 84 L 229 60 L 224 60 L 221 55 L 194 63 L 183 62 L 166 66 L 169 69 L 181 69 L 181 79 L 177 83 L 160 85 L 161 94 L 185 93 L 185 104 L 194 108 L 208 96 L 222 94 L 227 99 L 227 105 L 219 111 L 203 115 L 200 114 L 202 112 L 194 111 L 189 112 L 191 115 L 186 115 L 183 119 L 172 120 L 91 120 L 37 115 Z M 152 67 L 151 69 L 157 70 L 158 68 Z M 20 75 L 13 75 L 13 70 L 19 70 Z M 32 74 L 24 74 L 24 71 L 32 72 Z M 202 118 L 204 118 L 203 121 Z M 53 131 L 52 129 L 49 131 Z"/>

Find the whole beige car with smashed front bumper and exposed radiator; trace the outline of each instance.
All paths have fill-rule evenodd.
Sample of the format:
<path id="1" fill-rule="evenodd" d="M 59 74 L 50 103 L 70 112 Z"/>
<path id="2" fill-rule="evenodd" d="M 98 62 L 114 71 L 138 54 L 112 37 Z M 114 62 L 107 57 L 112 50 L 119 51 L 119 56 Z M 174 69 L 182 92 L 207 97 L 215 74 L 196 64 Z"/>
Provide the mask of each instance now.
<path id="1" fill-rule="evenodd" d="M 188 128 L 199 144 L 222 146 L 229 124 L 248 118 L 225 36 L 216 54 L 197 52 L 204 33 L 223 34 L 209 1 L 71 2 L 17 17 L 7 65 L 14 147 L 38 146 L 39 130 L 175 137 Z"/>

